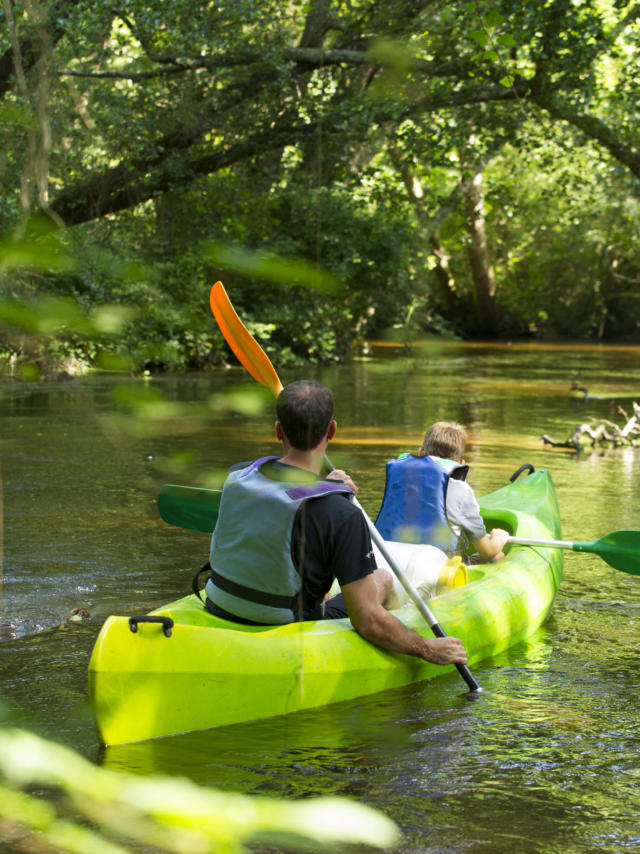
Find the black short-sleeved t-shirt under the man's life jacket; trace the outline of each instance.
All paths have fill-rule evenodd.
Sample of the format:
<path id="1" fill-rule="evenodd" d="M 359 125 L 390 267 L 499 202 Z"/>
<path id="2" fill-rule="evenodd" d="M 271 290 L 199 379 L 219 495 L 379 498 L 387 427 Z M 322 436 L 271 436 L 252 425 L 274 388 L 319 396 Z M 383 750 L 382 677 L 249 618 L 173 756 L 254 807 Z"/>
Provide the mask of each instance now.
<path id="1" fill-rule="evenodd" d="M 247 465 L 240 463 L 232 470 Z M 321 479 L 277 460 L 263 463 L 260 471 L 273 480 L 315 483 Z M 320 606 L 334 577 L 343 586 L 376 568 L 365 518 L 344 493 L 329 493 L 302 503 L 293 526 L 291 552 L 302 576 L 305 619 L 320 616 Z"/>

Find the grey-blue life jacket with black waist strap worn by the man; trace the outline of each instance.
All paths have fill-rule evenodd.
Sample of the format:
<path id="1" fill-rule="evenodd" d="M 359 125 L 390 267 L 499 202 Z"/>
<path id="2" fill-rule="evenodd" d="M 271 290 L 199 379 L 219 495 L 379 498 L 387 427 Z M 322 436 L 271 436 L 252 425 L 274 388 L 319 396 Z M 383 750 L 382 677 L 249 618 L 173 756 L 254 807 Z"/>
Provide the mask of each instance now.
<path id="1" fill-rule="evenodd" d="M 211 537 L 208 598 L 224 611 L 275 625 L 300 619 L 302 580 L 291 554 L 296 513 L 304 501 L 334 492 L 351 494 L 344 483 L 272 480 L 262 457 L 225 480 L 218 521 Z"/>

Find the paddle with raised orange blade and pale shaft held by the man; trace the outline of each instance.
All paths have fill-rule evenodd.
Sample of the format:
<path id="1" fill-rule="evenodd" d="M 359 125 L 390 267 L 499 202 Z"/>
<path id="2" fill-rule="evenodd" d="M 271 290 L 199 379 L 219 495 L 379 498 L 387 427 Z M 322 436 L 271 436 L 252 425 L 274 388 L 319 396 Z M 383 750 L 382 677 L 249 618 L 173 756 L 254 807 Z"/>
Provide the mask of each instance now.
<path id="1" fill-rule="evenodd" d="M 209 304 L 211 306 L 211 311 L 213 312 L 213 316 L 215 317 L 218 326 L 220 327 L 220 331 L 224 335 L 227 344 L 231 347 L 238 360 L 244 365 L 247 371 L 251 374 L 251 376 L 256 379 L 259 383 L 266 386 L 272 394 L 277 397 L 280 391 L 282 390 L 282 383 L 276 374 L 275 368 L 271 364 L 269 357 L 264 352 L 262 347 L 258 344 L 258 342 L 251 336 L 249 331 L 246 329 L 240 318 L 235 312 L 235 309 L 231 305 L 231 300 L 227 296 L 227 292 L 224 289 L 224 285 L 222 282 L 216 282 L 215 285 L 211 288 L 211 294 L 209 296 Z M 325 461 L 328 465 L 331 466 L 328 457 L 325 457 Z M 333 466 L 331 466 L 333 468 Z M 378 529 L 375 527 L 371 519 L 367 516 L 362 506 L 359 504 L 357 499 L 354 498 L 354 503 L 357 507 L 360 508 L 364 518 L 367 521 L 367 526 L 369 528 L 369 533 L 371 534 L 371 539 L 378 546 L 385 560 L 397 576 L 398 580 L 407 591 L 407 594 L 413 601 L 416 608 L 420 611 L 424 619 L 427 621 L 431 631 L 436 637 L 446 637 L 442 626 L 438 623 L 435 616 L 429 610 L 427 605 L 420 598 L 420 594 L 415 589 L 415 587 L 411 584 L 409 579 L 406 577 L 404 572 L 398 566 L 395 558 L 391 555 L 385 541 L 380 536 Z M 467 683 L 471 691 L 479 692 L 482 688 L 476 682 L 473 674 L 469 670 L 466 664 L 456 664 L 456 668 L 458 672 Z"/>

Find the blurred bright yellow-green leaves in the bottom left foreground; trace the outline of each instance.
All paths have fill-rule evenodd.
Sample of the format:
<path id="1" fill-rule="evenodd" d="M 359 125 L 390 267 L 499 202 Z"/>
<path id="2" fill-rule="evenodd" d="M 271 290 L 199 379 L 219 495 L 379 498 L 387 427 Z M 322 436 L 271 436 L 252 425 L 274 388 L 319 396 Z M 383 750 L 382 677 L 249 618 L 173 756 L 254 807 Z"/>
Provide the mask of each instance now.
<path id="1" fill-rule="evenodd" d="M 57 797 L 24 791 L 46 787 Z M 24 730 L 0 729 L 0 839 L 25 850 L 124 854 L 129 845 L 171 852 L 242 852 L 262 841 L 287 848 L 391 845 L 396 826 L 343 798 L 299 802 L 205 789 L 175 777 L 99 768 Z"/>

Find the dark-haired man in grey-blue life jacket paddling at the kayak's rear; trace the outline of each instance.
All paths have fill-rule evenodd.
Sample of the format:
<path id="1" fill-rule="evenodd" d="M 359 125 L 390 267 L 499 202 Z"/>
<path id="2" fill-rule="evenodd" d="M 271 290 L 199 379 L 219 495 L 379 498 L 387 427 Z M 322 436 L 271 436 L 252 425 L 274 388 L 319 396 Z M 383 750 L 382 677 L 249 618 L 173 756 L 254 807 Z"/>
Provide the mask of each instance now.
<path id="1" fill-rule="evenodd" d="M 355 486 L 321 478 L 336 433 L 333 396 L 318 383 L 286 386 L 277 400 L 280 457 L 234 467 L 211 538 L 206 608 L 235 622 L 273 625 L 348 616 L 366 640 L 435 664 L 465 664 L 457 638 L 423 638 L 383 606 L 393 577 L 377 569 Z M 341 593 L 325 602 L 334 577 Z"/>

